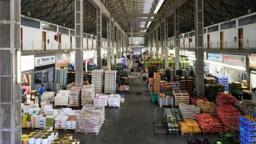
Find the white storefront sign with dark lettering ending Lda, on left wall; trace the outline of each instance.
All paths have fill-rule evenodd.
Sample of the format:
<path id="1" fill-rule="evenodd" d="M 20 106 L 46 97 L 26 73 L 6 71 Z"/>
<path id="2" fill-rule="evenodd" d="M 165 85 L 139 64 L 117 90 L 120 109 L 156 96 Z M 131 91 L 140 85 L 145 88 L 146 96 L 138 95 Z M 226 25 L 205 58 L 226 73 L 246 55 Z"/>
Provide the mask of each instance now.
<path id="1" fill-rule="evenodd" d="M 55 64 L 55 56 L 35 57 L 35 67 Z"/>

